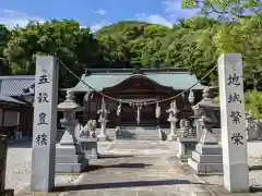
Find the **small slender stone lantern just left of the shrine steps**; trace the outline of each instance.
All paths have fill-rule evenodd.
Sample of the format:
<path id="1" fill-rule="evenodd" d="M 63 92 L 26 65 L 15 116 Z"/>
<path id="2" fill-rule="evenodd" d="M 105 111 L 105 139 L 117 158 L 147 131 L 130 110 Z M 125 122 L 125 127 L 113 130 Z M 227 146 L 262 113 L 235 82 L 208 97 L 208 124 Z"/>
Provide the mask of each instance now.
<path id="1" fill-rule="evenodd" d="M 98 120 L 100 123 L 100 134 L 97 136 L 97 138 L 98 140 L 108 140 L 109 137 L 106 132 L 106 124 L 108 123 L 107 115 L 110 112 L 106 109 L 106 102 L 104 98 L 102 99 L 102 108 L 97 111 L 97 113 L 100 114 Z"/>

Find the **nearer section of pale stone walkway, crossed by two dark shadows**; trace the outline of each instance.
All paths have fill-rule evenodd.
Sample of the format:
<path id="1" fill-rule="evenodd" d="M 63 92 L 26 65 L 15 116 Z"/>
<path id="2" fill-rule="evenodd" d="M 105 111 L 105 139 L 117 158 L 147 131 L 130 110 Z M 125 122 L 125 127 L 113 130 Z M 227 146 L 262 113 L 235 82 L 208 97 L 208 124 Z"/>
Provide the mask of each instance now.
<path id="1" fill-rule="evenodd" d="M 169 161 L 168 156 L 93 161 L 68 196 L 186 196 L 206 192 L 192 175 L 186 175 L 176 163 L 170 167 Z"/>

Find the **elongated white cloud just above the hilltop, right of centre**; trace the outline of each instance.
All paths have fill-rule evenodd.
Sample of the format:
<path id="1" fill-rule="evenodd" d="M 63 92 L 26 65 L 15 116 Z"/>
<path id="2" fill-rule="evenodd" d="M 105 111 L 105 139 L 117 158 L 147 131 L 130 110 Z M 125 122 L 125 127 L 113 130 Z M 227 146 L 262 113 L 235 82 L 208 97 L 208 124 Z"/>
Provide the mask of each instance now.
<path id="1" fill-rule="evenodd" d="M 157 14 L 146 15 L 143 13 L 136 14 L 135 16 L 139 21 L 144 21 L 152 24 L 160 24 L 170 28 L 172 27 L 172 23 L 170 21 Z"/>

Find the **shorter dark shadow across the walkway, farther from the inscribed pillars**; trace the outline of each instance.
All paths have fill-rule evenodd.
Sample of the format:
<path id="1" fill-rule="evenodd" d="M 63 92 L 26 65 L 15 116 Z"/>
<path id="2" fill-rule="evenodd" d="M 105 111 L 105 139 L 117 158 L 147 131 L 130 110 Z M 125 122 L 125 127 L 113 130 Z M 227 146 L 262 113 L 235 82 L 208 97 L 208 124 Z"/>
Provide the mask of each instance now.
<path id="1" fill-rule="evenodd" d="M 130 169 L 143 169 L 146 167 L 151 167 L 153 164 L 144 164 L 144 163 L 120 163 L 120 164 L 110 164 L 110 166 L 100 166 L 100 164 L 90 164 L 84 172 L 107 169 L 107 168 L 130 168 Z"/>

